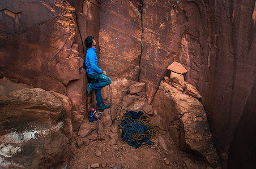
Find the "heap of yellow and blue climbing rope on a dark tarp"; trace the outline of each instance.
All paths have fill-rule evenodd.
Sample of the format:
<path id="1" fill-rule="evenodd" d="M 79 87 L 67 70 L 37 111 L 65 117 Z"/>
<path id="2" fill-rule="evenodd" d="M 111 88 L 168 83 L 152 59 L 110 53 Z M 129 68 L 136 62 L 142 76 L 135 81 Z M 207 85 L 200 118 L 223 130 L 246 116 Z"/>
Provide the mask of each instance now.
<path id="1" fill-rule="evenodd" d="M 151 118 L 145 114 L 140 115 L 139 119 L 123 115 L 117 122 L 118 137 L 122 143 L 127 143 L 134 148 L 150 148 L 157 138 L 157 132 L 165 134 L 167 131 L 155 124 L 149 123 Z M 161 131 L 161 132 L 160 132 Z"/>

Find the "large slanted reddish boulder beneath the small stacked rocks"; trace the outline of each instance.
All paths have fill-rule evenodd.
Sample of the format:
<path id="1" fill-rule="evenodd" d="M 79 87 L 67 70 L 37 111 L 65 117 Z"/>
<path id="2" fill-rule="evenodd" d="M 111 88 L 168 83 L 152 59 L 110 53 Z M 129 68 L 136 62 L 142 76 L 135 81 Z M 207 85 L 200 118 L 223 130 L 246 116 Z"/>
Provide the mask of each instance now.
<path id="1" fill-rule="evenodd" d="M 196 152 L 202 161 L 220 167 L 206 112 L 197 99 L 162 81 L 152 105 L 178 148 Z"/>

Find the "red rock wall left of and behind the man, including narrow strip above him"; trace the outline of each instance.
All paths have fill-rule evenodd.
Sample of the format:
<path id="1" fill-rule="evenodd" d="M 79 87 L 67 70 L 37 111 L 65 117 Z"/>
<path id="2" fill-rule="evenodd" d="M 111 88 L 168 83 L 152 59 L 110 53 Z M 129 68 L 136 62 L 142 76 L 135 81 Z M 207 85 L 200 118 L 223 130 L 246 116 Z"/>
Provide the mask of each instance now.
<path id="1" fill-rule="evenodd" d="M 0 74 L 65 94 L 80 110 L 86 106 L 84 38 L 99 39 L 100 1 L 69 2 L 0 2 Z"/>

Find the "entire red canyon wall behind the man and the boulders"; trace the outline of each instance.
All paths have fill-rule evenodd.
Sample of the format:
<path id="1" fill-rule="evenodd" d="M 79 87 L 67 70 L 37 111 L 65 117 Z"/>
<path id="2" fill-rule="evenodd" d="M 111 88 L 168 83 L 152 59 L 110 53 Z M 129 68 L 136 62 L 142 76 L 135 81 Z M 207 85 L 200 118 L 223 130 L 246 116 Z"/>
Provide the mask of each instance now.
<path id="1" fill-rule="evenodd" d="M 185 80 L 202 95 L 223 167 L 255 167 L 256 2 L 141 0 L 136 14 L 137 5 L 138 0 L 1 1 L 1 77 L 65 94 L 72 109 L 80 110 L 87 99 L 82 67 L 88 35 L 99 44 L 101 69 L 113 69 L 123 54 L 108 73 L 117 86 L 113 104 L 136 81 L 146 83 L 151 103 L 169 76 L 167 66 L 178 61 L 187 69 Z"/>

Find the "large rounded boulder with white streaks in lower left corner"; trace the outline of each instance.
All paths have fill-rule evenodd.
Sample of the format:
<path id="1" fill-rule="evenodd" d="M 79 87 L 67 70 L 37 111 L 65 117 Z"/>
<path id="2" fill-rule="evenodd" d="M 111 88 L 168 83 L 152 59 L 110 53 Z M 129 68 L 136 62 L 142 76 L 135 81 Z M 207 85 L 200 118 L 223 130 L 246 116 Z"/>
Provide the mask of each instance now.
<path id="1" fill-rule="evenodd" d="M 70 121 L 63 121 L 65 108 L 61 101 L 41 88 L 6 84 L 1 86 L 3 91 L 11 92 L 5 93 L 7 100 L 0 100 L 0 168 L 65 167 L 69 139 L 62 130 L 67 136 L 72 131 L 63 128 Z M 20 89 L 12 91 L 14 88 Z"/>

